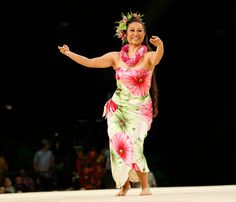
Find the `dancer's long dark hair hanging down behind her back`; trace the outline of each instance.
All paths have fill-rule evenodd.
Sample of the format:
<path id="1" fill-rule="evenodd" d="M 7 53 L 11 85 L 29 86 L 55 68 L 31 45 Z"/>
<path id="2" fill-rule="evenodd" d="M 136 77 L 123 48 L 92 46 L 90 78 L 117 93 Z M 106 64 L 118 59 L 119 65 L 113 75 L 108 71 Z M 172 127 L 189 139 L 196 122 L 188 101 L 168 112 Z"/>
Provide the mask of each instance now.
<path id="1" fill-rule="evenodd" d="M 127 28 L 130 23 L 132 22 L 138 22 L 143 25 L 144 31 L 146 32 L 146 26 L 144 25 L 144 22 L 142 22 L 139 18 L 132 17 L 128 22 L 127 22 Z M 126 33 L 126 31 L 125 31 Z M 128 43 L 126 41 L 126 43 Z M 152 51 L 152 48 L 150 46 L 147 32 L 145 35 L 145 39 L 143 40 L 143 45 L 146 45 L 148 48 L 148 51 Z M 157 86 L 157 80 L 156 80 L 156 68 L 154 68 L 154 71 L 152 73 L 152 81 L 151 81 L 151 88 L 150 88 L 150 96 L 152 98 L 152 108 L 153 108 L 153 118 L 157 116 L 158 114 L 158 86 Z"/>

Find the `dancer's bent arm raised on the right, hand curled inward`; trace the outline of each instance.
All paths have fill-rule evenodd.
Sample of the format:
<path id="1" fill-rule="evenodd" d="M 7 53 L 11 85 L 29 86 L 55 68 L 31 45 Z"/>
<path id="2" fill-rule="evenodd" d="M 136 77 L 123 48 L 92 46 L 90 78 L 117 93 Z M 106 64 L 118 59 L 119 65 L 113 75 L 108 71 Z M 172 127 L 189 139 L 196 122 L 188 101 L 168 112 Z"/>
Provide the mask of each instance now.
<path id="1" fill-rule="evenodd" d="M 152 65 L 157 65 L 160 62 L 160 60 L 164 54 L 163 42 L 157 36 L 152 36 L 152 38 L 150 38 L 150 42 L 152 45 L 156 46 L 156 51 L 153 51 L 150 54 L 150 63 Z"/>

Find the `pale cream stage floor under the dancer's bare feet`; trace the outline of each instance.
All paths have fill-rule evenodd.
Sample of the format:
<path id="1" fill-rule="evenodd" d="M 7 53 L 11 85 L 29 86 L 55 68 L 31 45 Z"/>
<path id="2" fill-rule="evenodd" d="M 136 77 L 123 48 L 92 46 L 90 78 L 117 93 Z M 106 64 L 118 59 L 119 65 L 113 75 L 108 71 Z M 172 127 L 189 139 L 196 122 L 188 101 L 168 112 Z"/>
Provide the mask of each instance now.
<path id="1" fill-rule="evenodd" d="M 74 190 L 0 194 L 0 202 L 235 202 L 236 185 L 155 187 L 152 195 L 139 196 L 140 189 L 131 189 L 117 197 L 116 189 Z"/>

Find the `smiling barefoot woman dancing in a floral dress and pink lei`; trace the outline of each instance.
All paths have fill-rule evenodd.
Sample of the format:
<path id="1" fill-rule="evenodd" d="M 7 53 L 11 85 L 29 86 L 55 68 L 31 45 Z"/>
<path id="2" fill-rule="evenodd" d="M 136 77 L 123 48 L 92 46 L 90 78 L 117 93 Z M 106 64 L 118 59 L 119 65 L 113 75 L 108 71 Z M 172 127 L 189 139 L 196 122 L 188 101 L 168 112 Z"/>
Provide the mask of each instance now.
<path id="1" fill-rule="evenodd" d="M 156 50 L 149 49 L 139 13 L 122 14 L 116 36 L 122 40 L 121 51 L 91 59 L 70 51 L 67 45 L 58 48 L 85 67 L 113 67 L 115 70 L 117 89 L 105 104 L 103 115 L 107 118 L 112 175 L 116 187 L 120 188 L 117 196 L 126 195 L 130 181 L 140 181 L 140 195 L 150 195 L 149 168 L 143 154 L 143 144 L 157 115 L 157 91 L 153 77 L 155 66 L 164 53 L 163 43 L 159 37 L 152 36 L 149 41 Z"/>

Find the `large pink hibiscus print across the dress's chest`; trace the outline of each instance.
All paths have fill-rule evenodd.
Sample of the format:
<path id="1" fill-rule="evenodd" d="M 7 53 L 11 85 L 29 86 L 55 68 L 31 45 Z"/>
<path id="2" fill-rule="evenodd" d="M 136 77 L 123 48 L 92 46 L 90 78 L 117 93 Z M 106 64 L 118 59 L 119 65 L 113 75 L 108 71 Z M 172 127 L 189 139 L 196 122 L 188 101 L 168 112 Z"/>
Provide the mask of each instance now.
<path id="1" fill-rule="evenodd" d="M 148 93 L 151 83 L 151 72 L 145 69 L 135 69 L 123 75 L 124 85 L 136 96 Z"/>

